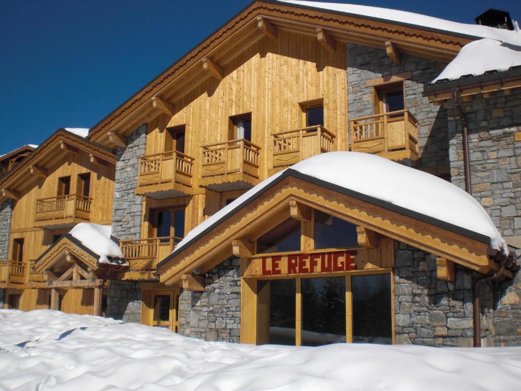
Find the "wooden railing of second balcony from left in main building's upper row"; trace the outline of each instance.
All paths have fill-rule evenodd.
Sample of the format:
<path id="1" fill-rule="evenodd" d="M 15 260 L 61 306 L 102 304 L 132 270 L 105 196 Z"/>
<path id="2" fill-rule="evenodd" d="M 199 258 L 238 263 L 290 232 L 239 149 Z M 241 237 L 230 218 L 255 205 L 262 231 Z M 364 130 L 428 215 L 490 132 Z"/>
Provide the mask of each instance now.
<path id="1" fill-rule="evenodd" d="M 258 179 L 259 151 L 261 147 L 244 139 L 204 145 L 201 176 L 204 179 L 239 174 Z"/>

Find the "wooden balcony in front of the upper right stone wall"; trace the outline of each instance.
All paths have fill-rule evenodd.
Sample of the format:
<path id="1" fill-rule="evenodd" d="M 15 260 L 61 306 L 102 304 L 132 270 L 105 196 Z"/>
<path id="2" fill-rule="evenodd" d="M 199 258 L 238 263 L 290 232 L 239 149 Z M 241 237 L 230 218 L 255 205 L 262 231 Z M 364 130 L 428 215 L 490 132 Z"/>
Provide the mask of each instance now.
<path id="1" fill-rule="evenodd" d="M 351 150 L 375 153 L 391 160 L 417 160 L 418 121 L 400 110 L 368 115 L 350 121 Z"/>

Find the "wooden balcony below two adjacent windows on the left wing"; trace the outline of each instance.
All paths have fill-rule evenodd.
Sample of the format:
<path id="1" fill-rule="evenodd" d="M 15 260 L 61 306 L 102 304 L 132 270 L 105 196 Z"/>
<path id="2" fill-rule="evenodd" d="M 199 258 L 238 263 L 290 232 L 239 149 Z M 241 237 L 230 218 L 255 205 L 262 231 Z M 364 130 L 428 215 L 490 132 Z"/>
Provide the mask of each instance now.
<path id="1" fill-rule="evenodd" d="M 90 222 L 92 198 L 66 194 L 36 200 L 36 227 L 60 228 Z"/>

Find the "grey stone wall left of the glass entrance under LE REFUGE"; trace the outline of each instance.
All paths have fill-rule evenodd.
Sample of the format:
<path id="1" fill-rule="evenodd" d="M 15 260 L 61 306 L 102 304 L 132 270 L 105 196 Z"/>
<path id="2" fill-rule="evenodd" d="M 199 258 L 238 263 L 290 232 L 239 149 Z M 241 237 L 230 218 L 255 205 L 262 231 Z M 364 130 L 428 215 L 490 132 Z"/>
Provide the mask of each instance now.
<path id="1" fill-rule="evenodd" d="M 239 343 L 240 328 L 240 262 L 230 258 L 206 274 L 204 291 L 181 292 L 179 334 Z"/>

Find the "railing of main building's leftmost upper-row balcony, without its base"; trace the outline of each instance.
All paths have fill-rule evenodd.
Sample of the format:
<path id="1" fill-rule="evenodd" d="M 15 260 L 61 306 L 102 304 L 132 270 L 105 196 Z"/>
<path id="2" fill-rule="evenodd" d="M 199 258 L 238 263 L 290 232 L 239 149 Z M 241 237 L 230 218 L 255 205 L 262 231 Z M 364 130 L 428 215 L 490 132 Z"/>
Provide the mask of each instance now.
<path id="1" fill-rule="evenodd" d="M 139 157 L 138 186 L 192 187 L 194 158 L 177 151 Z M 168 186 L 162 186 L 165 190 Z"/>

